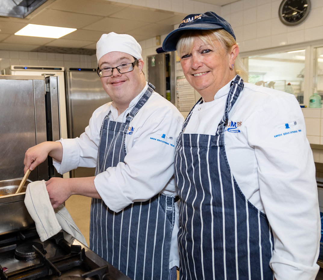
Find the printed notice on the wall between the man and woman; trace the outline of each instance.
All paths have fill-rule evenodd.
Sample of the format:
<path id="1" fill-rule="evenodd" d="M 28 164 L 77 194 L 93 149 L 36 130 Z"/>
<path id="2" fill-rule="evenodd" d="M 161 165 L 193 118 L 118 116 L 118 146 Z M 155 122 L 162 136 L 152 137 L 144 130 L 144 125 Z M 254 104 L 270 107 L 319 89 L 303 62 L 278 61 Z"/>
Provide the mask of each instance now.
<path id="1" fill-rule="evenodd" d="M 195 93 L 185 76 L 176 77 L 176 95 L 178 110 L 190 111 L 195 104 Z"/>

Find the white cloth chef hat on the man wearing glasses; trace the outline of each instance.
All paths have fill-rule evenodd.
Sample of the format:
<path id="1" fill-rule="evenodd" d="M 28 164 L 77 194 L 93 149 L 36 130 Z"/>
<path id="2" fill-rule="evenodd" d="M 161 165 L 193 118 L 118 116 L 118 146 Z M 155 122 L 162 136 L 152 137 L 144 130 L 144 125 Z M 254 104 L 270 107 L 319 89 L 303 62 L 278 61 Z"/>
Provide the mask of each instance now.
<path id="1" fill-rule="evenodd" d="M 103 34 L 97 43 L 97 59 L 109 52 L 123 52 L 137 59 L 142 59 L 141 46 L 128 34 L 117 34 L 110 32 Z"/>

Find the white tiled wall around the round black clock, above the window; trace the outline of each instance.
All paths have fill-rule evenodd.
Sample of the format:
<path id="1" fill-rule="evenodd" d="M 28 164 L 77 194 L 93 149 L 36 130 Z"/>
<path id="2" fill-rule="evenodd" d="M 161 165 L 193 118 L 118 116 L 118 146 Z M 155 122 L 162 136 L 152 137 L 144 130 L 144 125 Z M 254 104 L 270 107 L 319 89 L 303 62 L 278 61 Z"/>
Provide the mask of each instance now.
<path id="1" fill-rule="evenodd" d="M 222 7 L 231 23 L 240 52 L 323 39 L 323 1 L 312 0 L 310 14 L 297 26 L 286 26 L 278 18 L 281 0 L 241 0 Z"/>

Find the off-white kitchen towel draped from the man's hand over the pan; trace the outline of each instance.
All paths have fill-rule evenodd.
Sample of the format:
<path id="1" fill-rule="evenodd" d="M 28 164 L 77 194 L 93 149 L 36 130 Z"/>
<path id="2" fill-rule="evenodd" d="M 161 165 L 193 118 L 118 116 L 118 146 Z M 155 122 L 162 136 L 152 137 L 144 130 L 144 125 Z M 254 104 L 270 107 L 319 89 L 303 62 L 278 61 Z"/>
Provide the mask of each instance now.
<path id="1" fill-rule="evenodd" d="M 84 236 L 68 213 L 66 207 L 61 204 L 56 209 L 53 209 L 44 180 L 28 184 L 25 205 L 35 222 L 36 230 L 41 241 L 47 240 L 63 229 L 87 246 Z"/>

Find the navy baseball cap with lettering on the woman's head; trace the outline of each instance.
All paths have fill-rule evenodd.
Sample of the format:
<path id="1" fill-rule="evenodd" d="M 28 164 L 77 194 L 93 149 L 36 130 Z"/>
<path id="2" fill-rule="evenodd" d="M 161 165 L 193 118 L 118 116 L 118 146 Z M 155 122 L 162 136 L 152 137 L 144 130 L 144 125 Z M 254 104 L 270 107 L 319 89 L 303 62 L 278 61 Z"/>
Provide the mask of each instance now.
<path id="1" fill-rule="evenodd" d="M 170 32 L 164 42 L 162 48 L 165 52 L 176 50 L 176 45 L 179 38 L 186 30 L 193 29 L 224 29 L 230 33 L 235 40 L 235 35 L 231 25 L 221 16 L 214 12 L 205 12 L 204 14 L 190 14 L 186 16 L 177 29 Z"/>

